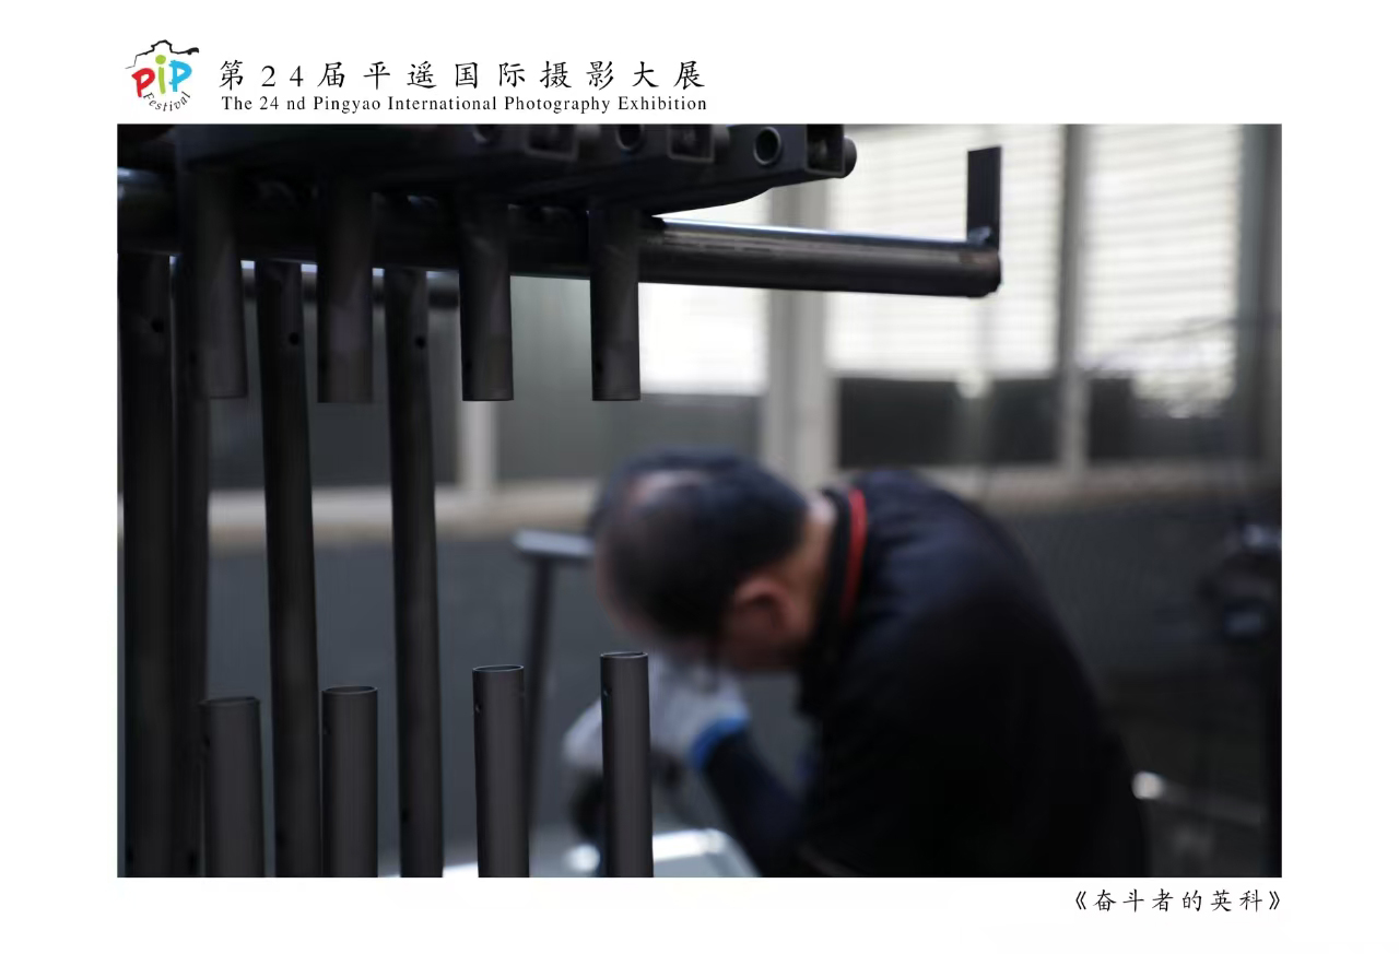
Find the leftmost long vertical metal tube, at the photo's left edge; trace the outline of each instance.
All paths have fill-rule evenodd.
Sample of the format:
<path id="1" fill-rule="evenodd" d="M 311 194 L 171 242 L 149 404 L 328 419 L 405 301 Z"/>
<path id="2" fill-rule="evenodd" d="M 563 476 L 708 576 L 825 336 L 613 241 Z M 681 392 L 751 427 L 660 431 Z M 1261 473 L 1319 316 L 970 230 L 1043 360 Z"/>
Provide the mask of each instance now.
<path id="1" fill-rule="evenodd" d="M 126 873 L 175 874 L 171 285 L 166 256 L 118 259 L 126 586 Z"/>

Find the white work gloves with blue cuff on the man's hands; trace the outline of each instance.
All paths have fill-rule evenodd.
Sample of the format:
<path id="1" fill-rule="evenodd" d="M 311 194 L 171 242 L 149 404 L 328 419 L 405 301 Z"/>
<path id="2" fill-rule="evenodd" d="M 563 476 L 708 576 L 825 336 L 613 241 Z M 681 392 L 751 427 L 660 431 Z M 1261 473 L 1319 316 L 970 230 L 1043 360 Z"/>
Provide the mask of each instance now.
<path id="1" fill-rule="evenodd" d="M 733 676 L 649 655 L 651 747 L 700 771 L 715 744 L 748 725 L 748 706 Z M 564 736 L 564 764 L 603 771 L 603 708 L 593 702 Z"/>

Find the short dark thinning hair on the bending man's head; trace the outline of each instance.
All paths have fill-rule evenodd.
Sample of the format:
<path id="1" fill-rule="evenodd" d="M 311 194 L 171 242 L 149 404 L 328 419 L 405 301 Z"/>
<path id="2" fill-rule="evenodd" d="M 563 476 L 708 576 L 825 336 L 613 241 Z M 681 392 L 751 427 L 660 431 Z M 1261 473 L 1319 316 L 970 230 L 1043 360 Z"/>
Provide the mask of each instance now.
<path id="1" fill-rule="evenodd" d="M 673 483 L 638 499 L 644 477 Z M 753 460 L 667 448 L 637 456 L 603 487 L 588 532 L 616 600 L 669 636 L 712 636 L 733 592 L 789 555 L 807 502 Z"/>

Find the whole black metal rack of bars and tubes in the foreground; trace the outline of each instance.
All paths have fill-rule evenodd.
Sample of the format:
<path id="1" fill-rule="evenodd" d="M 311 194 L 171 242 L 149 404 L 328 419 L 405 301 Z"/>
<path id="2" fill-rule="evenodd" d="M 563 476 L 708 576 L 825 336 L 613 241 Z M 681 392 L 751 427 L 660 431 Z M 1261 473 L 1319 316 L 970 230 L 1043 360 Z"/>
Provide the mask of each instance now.
<path id="1" fill-rule="evenodd" d="M 639 283 L 970 298 L 996 291 L 999 148 L 968 157 L 960 239 L 660 218 L 841 179 L 855 164 L 855 144 L 832 124 L 122 127 L 126 873 L 199 873 L 201 804 L 203 869 L 262 873 L 260 841 L 256 855 L 250 846 L 229 853 L 253 827 L 262 830 L 260 800 L 256 811 L 248 803 L 249 774 L 262 772 L 259 746 L 248 736 L 260 718 L 256 701 L 206 704 L 203 723 L 196 711 L 207 659 L 207 401 L 248 390 L 242 262 L 255 263 L 264 392 L 276 871 L 372 873 L 365 848 L 374 800 L 364 788 L 367 764 L 376 761 L 365 736 L 376 720 L 375 697 L 319 698 L 318 685 L 299 269 L 313 262 L 323 403 L 376 399 L 372 271 L 385 270 L 400 846 L 403 874 L 439 876 L 425 271 L 459 274 L 466 400 L 513 397 L 511 276 L 590 281 L 595 400 L 641 397 Z M 550 572 L 547 561 L 540 567 Z M 536 592 L 547 601 L 547 586 Z M 488 846 L 488 867 L 502 874 L 527 873 L 536 747 L 526 740 L 539 729 L 547 604 L 533 614 L 533 664 L 523 673 L 476 671 L 478 772 L 491 775 L 478 778 L 478 824 L 491 828 L 480 843 Z M 602 678 L 611 699 L 610 811 L 625 821 L 609 825 L 621 839 L 609 846 L 609 870 L 649 874 L 645 657 L 604 657 Z M 322 715 L 332 733 L 325 744 Z M 502 807 L 512 802 L 525 810 Z M 322 843 L 322 831 L 344 843 Z"/>

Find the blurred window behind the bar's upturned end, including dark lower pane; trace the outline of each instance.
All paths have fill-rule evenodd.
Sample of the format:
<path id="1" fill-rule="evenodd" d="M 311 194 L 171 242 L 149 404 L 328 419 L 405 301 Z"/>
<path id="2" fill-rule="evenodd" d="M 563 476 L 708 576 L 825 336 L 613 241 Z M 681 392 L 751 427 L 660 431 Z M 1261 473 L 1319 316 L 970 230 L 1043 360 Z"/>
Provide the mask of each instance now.
<path id="1" fill-rule="evenodd" d="M 830 228 L 956 239 L 967 152 L 1000 145 L 1004 284 L 982 299 L 831 295 L 842 467 L 1051 460 L 1063 137 L 1059 126 L 907 126 L 855 136 Z"/>

